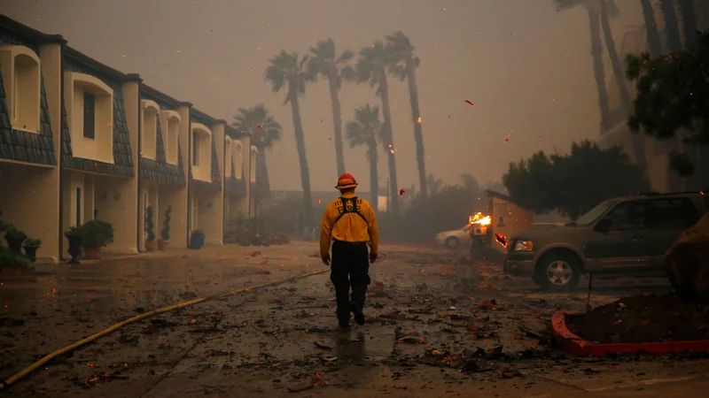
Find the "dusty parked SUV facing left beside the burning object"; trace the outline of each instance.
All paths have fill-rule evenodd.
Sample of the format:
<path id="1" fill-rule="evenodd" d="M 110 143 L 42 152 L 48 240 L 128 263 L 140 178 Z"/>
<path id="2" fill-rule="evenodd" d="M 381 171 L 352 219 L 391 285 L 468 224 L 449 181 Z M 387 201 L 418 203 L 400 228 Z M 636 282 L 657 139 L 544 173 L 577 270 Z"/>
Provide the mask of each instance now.
<path id="1" fill-rule="evenodd" d="M 504 271 L 547 289 L 573 287 L 581 273 L 664 272 L 667 249 L 707 208 L 703 192 L 609 199 L 574 223 L 512 236 Z"/>

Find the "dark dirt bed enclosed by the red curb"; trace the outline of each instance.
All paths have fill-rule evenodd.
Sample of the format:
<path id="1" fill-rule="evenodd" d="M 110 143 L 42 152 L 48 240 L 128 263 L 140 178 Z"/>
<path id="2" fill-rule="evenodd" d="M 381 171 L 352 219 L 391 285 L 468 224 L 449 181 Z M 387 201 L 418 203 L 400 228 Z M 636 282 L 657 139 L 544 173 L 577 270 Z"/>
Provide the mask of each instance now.
<path id="1" fill-rule="evenodd" d="M 709 339 L 709 304 L 675 295 L 634 295 L 577 317 L 569 330 L 599 343 L 697 341 Z"/>

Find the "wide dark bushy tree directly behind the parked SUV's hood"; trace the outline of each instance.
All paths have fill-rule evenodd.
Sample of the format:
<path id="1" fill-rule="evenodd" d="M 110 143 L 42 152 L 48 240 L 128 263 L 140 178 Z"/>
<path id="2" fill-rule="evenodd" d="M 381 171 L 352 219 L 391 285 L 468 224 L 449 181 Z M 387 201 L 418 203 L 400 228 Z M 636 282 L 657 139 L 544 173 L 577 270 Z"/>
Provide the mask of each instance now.
<path id="1" fill-rule="evenodd" d="M 503 184 L 518 205 L 537 213 L 558 210 L 573 219 L 605 199 L 650 189 L 642 168 L 625 152 L 588 140 L 573 142 L 568 155 L 539 151 L 510 162 Z"/>

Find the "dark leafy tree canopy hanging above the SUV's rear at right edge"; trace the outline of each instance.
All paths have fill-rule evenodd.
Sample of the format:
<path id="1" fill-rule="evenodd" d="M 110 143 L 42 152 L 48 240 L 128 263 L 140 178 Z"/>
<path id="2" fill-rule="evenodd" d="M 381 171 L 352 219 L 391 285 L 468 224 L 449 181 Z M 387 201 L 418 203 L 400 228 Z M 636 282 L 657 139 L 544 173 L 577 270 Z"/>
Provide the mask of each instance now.
<path id="1" fill-rule="evenodd" d="M 626 57 L 627 78 L 637 91 L 627 119 L 633 132 L 642 127 L 658 140 L 685 134 L 685 143 L 709 144 L 709 30 L 698 34 L 696 43 L 693 49 L 668 56 Z M 672 154 L 670 165 L 683 176 L 694 172 L 679 152 Z"/>

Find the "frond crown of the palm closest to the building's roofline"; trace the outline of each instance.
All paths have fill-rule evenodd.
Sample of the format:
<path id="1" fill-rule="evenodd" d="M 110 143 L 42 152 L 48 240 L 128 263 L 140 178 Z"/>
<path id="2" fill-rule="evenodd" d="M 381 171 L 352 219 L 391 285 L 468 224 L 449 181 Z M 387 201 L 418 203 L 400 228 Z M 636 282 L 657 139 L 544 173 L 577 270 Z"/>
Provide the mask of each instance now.
<path id="1" fill-rule="evenodd" d="M 239 108 L 231 126 L 242 133 L 250 134 L 252 142 L 260 142 L 261 146 L 267 149 L 273 148 L 283 135 L 283 127 L 263 103 L 251 108 Z"/>

